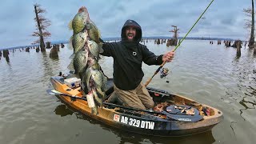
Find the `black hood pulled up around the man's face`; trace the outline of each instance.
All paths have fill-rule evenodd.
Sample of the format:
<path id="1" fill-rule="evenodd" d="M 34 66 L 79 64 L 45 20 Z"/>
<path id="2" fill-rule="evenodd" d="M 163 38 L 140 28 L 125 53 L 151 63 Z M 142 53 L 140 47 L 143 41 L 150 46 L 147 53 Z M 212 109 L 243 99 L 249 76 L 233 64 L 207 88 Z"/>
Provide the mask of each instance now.
<path id="1" fill-rule="evenodd" d="M 142 28 L 138 25 L 134 20 L 128 19 L 125 24 L 122 26 L 121 38 L 122 40 L 126 40 L 126 27 L 134 26 L 136 29 L 136 35 L 134 37 L 135 42 L 140 42 L 142 39 Z"/>

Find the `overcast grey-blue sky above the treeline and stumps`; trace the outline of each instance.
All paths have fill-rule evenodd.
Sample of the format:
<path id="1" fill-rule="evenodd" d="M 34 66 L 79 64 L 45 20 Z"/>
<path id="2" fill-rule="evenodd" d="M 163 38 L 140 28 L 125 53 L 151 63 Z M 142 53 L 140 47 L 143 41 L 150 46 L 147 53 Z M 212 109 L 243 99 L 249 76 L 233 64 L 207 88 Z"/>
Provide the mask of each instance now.
<path id="1" fill-rule="evenodd" d="M 86 6 L 90 19 L 98 26 L 102 38 L 120 37 L 127 19 L 142 26 L 142 36 L 171 36 L 171 26 L 178 26 L 184 36 L 211 0 L 1 0 L 0 49 L 26 46 L 34 42 L 34 3 L 47 11 L 50 19 L 48 41 L 68 40 L 72 31 L 68 23 L 81 6 Z M 240 38 L 248 32 L 244 8 L 251 0 L 214 0 L 188 37 Z M 46 40 L 46 41 L 47 41 Z"/>

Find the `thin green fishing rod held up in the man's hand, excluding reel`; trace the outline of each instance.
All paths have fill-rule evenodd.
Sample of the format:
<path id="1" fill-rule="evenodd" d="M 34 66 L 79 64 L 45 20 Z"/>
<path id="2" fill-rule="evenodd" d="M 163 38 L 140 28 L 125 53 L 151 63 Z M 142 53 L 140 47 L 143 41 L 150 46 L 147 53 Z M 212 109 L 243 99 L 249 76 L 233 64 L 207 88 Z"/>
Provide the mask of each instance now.
<path id="1" fill-rule="evenodd" d="M 212 1 L 210 2 L 210 4 L 206 7 L 206 10 L 210 7 L 210 5 L 211 5 L 213 2 L 214 2 L 214 0 L 212 0 Z M 198 20 L 197 20 L 196 22 L 194 22 L 194 25 L 193 25 L 193 26 L 190 28 L 190 30 L 186 33 L 185 37 L 182 38 L 181 42 L 178 42 L 178 45 L 177 45 L 177 46 L 175 47 L 175 49 L 172 50 L 172 51 L 175 51 L 175 50 L 178 49 L 178 46 L 181 45 L 181 43 L 182 43 L 183 40 L 186 38 L 186 36 L 190 33 L 190 31 L 191 31 L 191 30 L 194 28 L 194 26 L 198 23 L 199 19 L 202 18 L 202 15 L 206 13 L 206 10 L 203 11 L 203 13 L 200 15 L 200 17 L 198 18 Z M 166 64 L 166 61 L 165 61 L 165 62 L 162 62 L 162 65 L 160 65 L 160 66 L 158 67 L 158 70 L 156 70 L 156 71 L 154 72 L 154 75 L 155 75 L 155 74 L 158 74 L 159 70 L 161 70 L 161 69 L 162 69 L 162 66 L 164 66 L 165 64 Z M 154 78 L 154 75 L 153 75 L 148 81 L 146 81 L 145 86 L 147 86 L 147 85 L 151 82 L 152 78 Z"/>

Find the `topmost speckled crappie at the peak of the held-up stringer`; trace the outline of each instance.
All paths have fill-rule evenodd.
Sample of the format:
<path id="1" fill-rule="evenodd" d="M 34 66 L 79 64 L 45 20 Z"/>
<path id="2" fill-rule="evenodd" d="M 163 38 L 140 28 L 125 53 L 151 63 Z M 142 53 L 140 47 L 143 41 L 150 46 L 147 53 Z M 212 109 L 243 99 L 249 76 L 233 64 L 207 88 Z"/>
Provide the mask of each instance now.
<path id="1" fill-rule="evenodd" d="M 88 22 L 89 22 L 88 10 L 86 9 L 85 6 L 82 6 L 78 10 L 78 14 L 74 16 L 73 20 L 69 24 L 70 30 L 73 30 L 74 34 L 78 34 L 85 28 L 86 23 Z"/>

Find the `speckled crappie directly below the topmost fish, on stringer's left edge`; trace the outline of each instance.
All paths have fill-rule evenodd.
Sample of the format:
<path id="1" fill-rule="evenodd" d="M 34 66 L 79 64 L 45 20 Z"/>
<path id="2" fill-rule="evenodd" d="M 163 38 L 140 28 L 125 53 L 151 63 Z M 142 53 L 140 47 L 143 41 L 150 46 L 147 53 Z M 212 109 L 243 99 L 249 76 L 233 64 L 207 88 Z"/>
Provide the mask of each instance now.
<path id="1" fill-rule="evenodd" d="M 78 34 L 74 34 L 70 38 L 70 42 L 72 43 L 72 46 L 74 48 L 74 54 L 76 54 L 79 50 L 85 46 L 85 43 L 87 41 L 87 31 L 83 30 L 82 32 L 79 32 Z"/>

